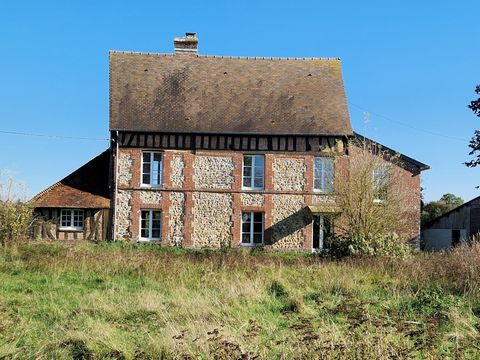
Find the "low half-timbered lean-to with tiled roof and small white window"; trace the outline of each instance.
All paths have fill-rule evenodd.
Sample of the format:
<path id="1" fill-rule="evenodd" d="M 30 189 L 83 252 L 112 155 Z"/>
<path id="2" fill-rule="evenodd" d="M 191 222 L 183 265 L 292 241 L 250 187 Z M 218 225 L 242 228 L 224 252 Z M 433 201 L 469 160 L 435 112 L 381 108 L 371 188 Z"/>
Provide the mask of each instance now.
<path id="1" fill-rule="evenodd" d="M 110 150 L 48 187 L 32 201 L 40 218 L 33 237 L 102 240 L 110 231 Z"/>

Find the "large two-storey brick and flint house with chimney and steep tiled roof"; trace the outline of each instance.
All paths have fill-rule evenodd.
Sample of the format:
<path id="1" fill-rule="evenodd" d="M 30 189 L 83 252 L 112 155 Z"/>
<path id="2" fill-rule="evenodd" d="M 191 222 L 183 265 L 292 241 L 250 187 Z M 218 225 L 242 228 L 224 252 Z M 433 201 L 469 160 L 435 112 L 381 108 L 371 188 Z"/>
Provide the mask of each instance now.
<path id="1" fill-rule="evenodd" d="M 195 248 L 322 248 L 335 232 L 326 215 L 342 211 L 336 179 L 348 175 L 351 140 L 361 139 L 340 60 L 204 56 L 193 33 L 174 46 L 174 54 L 110 52 L 108 236 Z M 420 173 L 428 167 L 400 158 L 398 186 L 410 189 L 402 235 L 418 238 Z M 73 211 L 75 225 L 77 207 L 53 207 L 57 217 L 48 219 Z"/>

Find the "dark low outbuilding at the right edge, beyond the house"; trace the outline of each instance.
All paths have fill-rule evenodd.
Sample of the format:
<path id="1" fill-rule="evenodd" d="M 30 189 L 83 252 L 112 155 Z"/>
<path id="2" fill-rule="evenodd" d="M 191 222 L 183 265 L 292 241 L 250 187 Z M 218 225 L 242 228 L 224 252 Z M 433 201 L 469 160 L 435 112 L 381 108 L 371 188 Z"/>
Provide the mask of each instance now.
<path id="1" fill-rule="evenodd" d="M 425 250 L 445 250 L 466 242 L 480 232 L 480 196 L 422 227 L 421 244 Z"/>

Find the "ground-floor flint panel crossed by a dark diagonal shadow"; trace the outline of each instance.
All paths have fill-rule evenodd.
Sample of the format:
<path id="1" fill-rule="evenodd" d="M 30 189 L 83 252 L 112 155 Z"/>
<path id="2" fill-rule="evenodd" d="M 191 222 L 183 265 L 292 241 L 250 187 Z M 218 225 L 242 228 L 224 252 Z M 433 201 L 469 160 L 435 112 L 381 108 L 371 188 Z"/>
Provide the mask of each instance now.
<path id="1" fill-rule="evenodd" d="M 303 195 L 273 195 L 272 200 L 272 248 L 301 249 L 309 223 Z"/>

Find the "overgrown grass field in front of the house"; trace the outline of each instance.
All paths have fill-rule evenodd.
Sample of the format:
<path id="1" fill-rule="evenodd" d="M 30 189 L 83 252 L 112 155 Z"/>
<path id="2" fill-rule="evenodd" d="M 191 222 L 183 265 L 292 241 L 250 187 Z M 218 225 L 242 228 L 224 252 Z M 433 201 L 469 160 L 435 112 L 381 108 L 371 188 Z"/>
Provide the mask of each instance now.
<path id="1" fill-rule="evenodd" d="M 0 249 L 0 358 L 476 358 L 480 246 L 406 259 Z"/>

